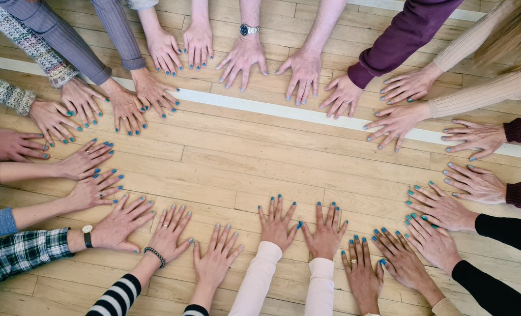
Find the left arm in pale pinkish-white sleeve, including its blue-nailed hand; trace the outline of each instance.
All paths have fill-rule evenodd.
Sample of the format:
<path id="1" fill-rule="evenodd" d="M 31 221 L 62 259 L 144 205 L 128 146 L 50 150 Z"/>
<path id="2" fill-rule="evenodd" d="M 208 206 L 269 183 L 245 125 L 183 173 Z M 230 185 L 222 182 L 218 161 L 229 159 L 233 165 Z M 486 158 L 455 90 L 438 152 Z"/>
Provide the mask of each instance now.
<path id="1" fill-rule="evenodd" d="M 295 208 L 296 202 L 293 202 L 286 216 L 282 218 L 282 196 L 279 195 L 276 210 L 275 198 L 270 201 L 266 220 L 261 205 L 258 206 L 262 226 L 261 244 L 259 244 L 257 255 L 246 271 L 239 293 L 230 310 L 230 316 L 256 316 L 261 312 L 277 262 L 282 258 L 282 252 L 293 242 L 297 227 L 299 227 L 294 225 L 288 234 L 288 225 Z"/>

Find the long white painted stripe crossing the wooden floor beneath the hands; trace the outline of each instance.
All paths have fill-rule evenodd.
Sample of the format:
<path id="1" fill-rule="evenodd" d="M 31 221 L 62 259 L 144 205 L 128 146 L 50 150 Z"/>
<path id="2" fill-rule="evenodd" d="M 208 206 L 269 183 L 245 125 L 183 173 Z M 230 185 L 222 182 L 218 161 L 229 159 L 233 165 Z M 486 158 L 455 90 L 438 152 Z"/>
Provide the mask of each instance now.
<path id="1" fill-rule="evenodd" d="M 23 62 L 21 60 L 9 59 L 0 57 L 0 68 L 14 71 L 26 72 L 27 74 L 45 76 L 43 70 L 35 63 Z M 209 70 L 209 69 L 208 69 Z M 88 78 L 82 76 L 82 78 L 93 84 Z M 121 86 L 129 89 L 130 91 L 135 91 L 134 83 L 130 79 L 123 79 L 113 77 L 117 82 L 121 84 Z M 339 117 L 337 120 L 332 118 L 327 118 L 324 113 L 305 110 L 299 107 L 290 107 L 283 106 L 278 104 L 270 104 L 259 101 L 251 101 L 244 100 L 240 98 L 233 98 L 231 96 L 226 95 L 218 95 L 207 92 L 200 92 L 189 89 L 181 89 L 180 92 L 172 92 L 172 95 L 175 95 L 176 98 L 180 100 L 187 100 L 197 103 L 215 105 L 226 108 L 233 108 L 235 110 L 249 111 L 254 113 L 273 115 L 278 117 L 285 117 L 291 119 L 298 119 L 302 121 L 324 124 L 329 126 L 337 126 L 342 128 L 349 128 L 354 130 L 363 131 L 364 125 L 370 123 L 369 120 L 359 119 L 359 118 L 348 118 L 345 116 Z M 373 128 L 367 130 L 376 131 L 378 128 Z M 442 132 L 424 130 L 419 128 L 414 128 L 410 132 L 407 133 L 406 139 L 425 141 L 433 144 L 441 144 L 441 145 L 457 145 L 461 142 L 445 142 L 441 140 L 441 136 L 446 136 L 447 134 Z M 375 143 L 376 147 L 376 143 Z M 514 144 L 503 144 L 495 153 L 521 157 L 521 146 Z"/>

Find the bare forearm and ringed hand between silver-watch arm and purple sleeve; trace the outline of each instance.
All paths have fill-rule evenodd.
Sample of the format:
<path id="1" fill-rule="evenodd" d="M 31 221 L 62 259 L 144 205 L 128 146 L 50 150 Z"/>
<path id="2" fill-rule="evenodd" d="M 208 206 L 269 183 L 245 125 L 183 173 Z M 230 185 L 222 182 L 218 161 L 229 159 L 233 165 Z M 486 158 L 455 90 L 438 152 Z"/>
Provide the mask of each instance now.
<path id="1" fill-rule="evenodd" d="M 314 95 L 317 97 L 318 76 L 322 64 L 320 54 L 337 25 L 346 3 L 346 0 L 321 0 L 313 27 L 301 50 L 288 57 L 286 62 L 282 63 L 275 72 L 276 75 L 282 75 L 286 69 L 291 67 L 291 80 L 286 91 L 287 101 L 291 99 L 291 94 L 293 94 L 297 82 L 299 83 L 299 90 L 296 93 L 296 105 L 300 105 L 301 102 L 306 104 L 312 86 Z"/>

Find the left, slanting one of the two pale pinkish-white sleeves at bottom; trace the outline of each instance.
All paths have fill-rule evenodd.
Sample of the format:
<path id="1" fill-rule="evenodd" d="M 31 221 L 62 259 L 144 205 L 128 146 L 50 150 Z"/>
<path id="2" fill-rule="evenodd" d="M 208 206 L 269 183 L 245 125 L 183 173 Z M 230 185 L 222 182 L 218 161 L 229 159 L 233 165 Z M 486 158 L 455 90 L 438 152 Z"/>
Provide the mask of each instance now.
<path id="1" fill-rule="evenodd" d="M 228 316 L 258 316 L 280 258 L 282 250 L 279 246 L 261 241 Z"/>

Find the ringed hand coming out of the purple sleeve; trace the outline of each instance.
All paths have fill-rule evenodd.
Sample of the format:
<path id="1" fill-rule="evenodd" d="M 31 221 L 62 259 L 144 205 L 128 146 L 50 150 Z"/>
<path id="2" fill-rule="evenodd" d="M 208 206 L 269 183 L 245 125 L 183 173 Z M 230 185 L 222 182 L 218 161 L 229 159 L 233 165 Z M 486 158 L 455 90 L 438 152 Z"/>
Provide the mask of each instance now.
<path id="1" fill-rule="evenodd" d="M 331 117 L 331 115 L 334 114 L 334 119 L 337 119 L 342 115 L 342 113 L 344 113 L 346 108 L 351 105 L 348 116 L 353 117 L 356 105 L 358 105 L 358 99 L 360 99 L 360 95 L 364 90 L 358 88 L 356 84 L 349 79 L 348 75 L 343 75 L 334 79 L 326 86 L 325 90 L 329 91 L 334 87 L 337 87 L 337 90 L 331 93 L 324 102 L 320 103 L 319 108 L 324 108 L 328 104 L 333 103 L 327 113 L 327 117 Z"/>

